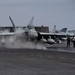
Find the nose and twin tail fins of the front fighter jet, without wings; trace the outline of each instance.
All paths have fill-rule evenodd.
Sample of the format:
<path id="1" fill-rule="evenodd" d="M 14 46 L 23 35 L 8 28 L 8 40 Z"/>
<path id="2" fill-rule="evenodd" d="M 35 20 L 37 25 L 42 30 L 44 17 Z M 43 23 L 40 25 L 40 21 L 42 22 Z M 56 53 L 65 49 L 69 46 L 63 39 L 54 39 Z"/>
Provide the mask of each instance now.
<path id="1" fill-rule="evenodd" d="M 32 17 L 32 19 L 30 20 L 29 24 L 25 27 L 25 29 L 22 29 L 23 32 L 21 32 L 19 30 L 19 28 L 18 29 L 16 28 L 16 26 L 15 26 L 15 24 L 14 24 L 14 22 L 11 19 L 10 16 L 9 16 L 9 19 L 10 19 L 12 25 L 13 25 L 14 32 L 17 33 L 17 31 L 18 31 L 18 33 L 24 33 L 28 40 L 30 40 L 30 39 L 36 39 L 38 37 L 38 33 L 35 30 L 34 25 L 33 25 L 33 19 L 34 19 L 34 17 Z"/>

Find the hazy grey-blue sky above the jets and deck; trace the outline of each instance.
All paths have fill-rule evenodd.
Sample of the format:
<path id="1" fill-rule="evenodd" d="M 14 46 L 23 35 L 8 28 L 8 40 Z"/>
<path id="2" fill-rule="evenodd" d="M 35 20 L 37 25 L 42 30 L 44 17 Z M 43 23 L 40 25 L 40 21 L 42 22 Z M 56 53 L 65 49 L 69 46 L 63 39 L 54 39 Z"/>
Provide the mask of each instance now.
<path id="1" fill-rule="evenodd" d="M 9 16 L 16 26 L 26 26 L 34 16 L 35 26 L 75 30 L 75 0 L 0 0 L 0 26 L 12 26 Z"/>

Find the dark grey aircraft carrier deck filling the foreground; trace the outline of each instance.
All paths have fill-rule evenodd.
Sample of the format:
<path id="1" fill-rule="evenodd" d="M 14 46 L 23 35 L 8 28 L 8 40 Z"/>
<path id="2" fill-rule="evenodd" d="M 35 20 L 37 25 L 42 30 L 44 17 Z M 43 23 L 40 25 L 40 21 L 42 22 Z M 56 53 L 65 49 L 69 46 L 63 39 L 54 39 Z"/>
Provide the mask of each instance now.
<path id="1" fill-rule="evenodd" d="M 75 49 L 0 48 L 0 75 L 75 75 Z"/>

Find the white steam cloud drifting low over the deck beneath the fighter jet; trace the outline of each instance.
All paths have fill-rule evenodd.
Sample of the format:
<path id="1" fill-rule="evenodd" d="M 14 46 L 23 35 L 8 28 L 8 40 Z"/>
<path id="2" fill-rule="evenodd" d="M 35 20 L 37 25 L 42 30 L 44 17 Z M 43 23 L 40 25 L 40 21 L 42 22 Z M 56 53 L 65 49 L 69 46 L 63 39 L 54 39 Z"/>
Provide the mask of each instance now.
<path id="1" fill-rule="evenodd" d="M 0 46 L 6 48 L 46 49 L 42 43 L 27 41 L 22 33 L 8 38 L 5 37 L 5 42 L 1 43 Z"/>

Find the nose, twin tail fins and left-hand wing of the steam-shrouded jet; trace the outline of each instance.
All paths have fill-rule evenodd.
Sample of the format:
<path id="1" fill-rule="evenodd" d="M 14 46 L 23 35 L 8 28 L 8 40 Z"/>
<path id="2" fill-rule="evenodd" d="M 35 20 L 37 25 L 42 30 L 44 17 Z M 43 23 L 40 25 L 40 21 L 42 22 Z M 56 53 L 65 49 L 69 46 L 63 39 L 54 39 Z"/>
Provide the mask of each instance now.
<path id="1" fill-rule="evenodd" d="M 29 24 L 26 26 L 26 28 L 23 30 L 21 28 L 16 28 L 13 20 L 11 19 L 11 17 L 9 16 L 9 19 L 13 25 L 13 32 L 1 32 L 0 33 L 0 37 L 1 37 L 1 42 L 2 43 L 5 43 L 6 41 L 6 37 L 9 36 L 18 36 L 21 34 L 25 34 L 27 40 L 30 40 L 30 39 L 36 39 L 38 37 L 38 33 L 37 31 L 35 30 L 34 26 L 33 26 L 33 19 L 34 17 L 32 17 L 32 19 L 30 20 Z"/>

